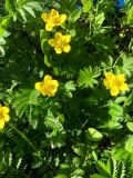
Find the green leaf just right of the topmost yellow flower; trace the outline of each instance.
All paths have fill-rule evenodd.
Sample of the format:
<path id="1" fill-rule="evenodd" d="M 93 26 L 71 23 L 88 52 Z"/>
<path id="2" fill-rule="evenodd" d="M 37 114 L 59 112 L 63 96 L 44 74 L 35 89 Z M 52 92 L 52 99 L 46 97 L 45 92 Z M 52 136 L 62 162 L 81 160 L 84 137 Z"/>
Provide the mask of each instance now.
<path id="1" fill-rule="evenodd" d="M 70 20 L 71 22 L 75 22 L 78 19 L 80 19 L 81 12 L 82 12 L 82 9 L 75 9 L 75 10 L 69 16 L 69 20 Z"/>

